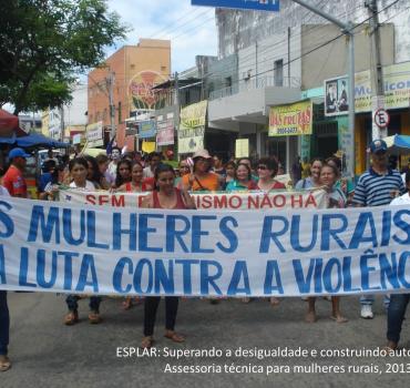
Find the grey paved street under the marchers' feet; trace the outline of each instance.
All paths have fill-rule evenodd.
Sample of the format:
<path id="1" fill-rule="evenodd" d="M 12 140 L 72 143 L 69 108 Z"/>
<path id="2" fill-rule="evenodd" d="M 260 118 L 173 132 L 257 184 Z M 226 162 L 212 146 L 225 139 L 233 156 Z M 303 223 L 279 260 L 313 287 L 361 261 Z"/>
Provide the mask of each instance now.
<path id="1" fill-rule="evenodd" d="M 349 323 L 338 325 L 328 316 L 330 303 L 319 299 L 317 324 L 304 323 L 306 303 L 299 298 L 284 299 L 270 307 L 266 300 L 244 305 L 238 300 L 223 300 L 211 305 L 207 300 L 184 299 L 177 319 L 178 331 L 187 336 L 184 345 L 175 345 L 162 337 L 164 304 L 160 305 L 158 329 L 155 343 L 156 358 L 116 357 L 116 348 L 137 347 L 142 336 L 143 309 L 135 306 L 129 312 L 121 308 L 121 299 L 107 298 L 102 303 L 103 324 L 91 326 L 86 320 L 88 302 L 80 302 L 81 321 L 74 327 L 62 324 L 65 304 L 54 294 L 9 294 L 11 309 L 10 357 L 13 367 L 0 375 L 0 386 L 11 387 L 404 387 L 408 374 L 340 372 L 300 374 L 295 365 L 337 366 L 346 369 L 361 366 L 368 370 L 387 370 L 386 363 L 410 363 L 407 358 L 256 358 L 225 357 L 227 349 L 298 347 L 311 350 L 334 348 L 375 348 L 385 345 L 386 315 L 381 298 L 376 304 L 373 320 L 359 317 L 356 297 L 342 299 L 342 310 Z M 402 345 L 409 348 L 410 327 L 404 323 Z M 166 357 L 173 349 L 211 349 L 224 353 L 219 358 Z M 171 350 L 170 350 L 170 349 Z M 170 366 L 249 367 L 263 372 L 172 374 Z M 275 374 L 275 366 L 283 372 Z M 269 376 L 267 368 L 270 367 Z M 290 368 L 287 372 L 286 367 Z M 317 367 L 317 366 L 316 366 Z M 396 366 L 397 367 L 397 366 Z M 376 368 L 376 369 L 375 369 Z M 229 369 L 228 369 L 229 370 Z M 230 369 L 233 370 L 233 369 Z M 245 369 L 243 369 L 245 370 Z M 410 371 L 410 370 L 409 370 Z"/>

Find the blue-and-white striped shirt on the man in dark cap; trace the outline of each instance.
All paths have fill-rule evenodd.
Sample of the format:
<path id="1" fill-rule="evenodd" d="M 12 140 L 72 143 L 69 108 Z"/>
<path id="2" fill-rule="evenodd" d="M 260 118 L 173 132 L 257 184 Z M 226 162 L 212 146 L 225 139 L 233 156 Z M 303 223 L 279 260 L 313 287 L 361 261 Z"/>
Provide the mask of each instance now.
<path id="1" fill-rule="evenodd" d="M 370 167 L 359 177 L 353 202 L 362 206 L 388 205 L 394 197 L 393 192 L 399 192 L 399 194 L 406 192 L 400 173 L 389 170 L 386 175 L 379 175 Z"/>

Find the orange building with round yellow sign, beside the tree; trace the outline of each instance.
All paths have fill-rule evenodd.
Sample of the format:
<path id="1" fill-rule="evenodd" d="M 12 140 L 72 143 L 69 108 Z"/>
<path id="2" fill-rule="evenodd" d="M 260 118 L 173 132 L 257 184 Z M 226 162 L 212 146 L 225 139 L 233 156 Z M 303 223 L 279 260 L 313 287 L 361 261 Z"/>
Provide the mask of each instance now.
<path id="1" fill-rule="evenodd" d="M 171 42 L 141 39 L 124 45 L 88 75 L 88 124 L 102 122 L 105 143 L 115 133 L 119 146 L 135 149 L 126 119 L 160 109 L 152 88 L 171 76 Z"/>

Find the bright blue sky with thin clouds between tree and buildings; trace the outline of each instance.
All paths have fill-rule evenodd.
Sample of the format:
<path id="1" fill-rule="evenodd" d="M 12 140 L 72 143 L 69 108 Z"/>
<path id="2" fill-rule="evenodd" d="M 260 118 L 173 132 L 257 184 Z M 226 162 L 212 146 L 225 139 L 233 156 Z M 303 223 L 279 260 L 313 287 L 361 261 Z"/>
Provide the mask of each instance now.
<path id="1" fill-rule="evenodd" d="M 215 9 L 193 7 L 191 0 L 109 0 L 123 23 L 132 28 L 125 42 L 107 55 L 141 38 L 170 39 L 172 72 L 195 65 L 195 55 L 217 55 Z"/>

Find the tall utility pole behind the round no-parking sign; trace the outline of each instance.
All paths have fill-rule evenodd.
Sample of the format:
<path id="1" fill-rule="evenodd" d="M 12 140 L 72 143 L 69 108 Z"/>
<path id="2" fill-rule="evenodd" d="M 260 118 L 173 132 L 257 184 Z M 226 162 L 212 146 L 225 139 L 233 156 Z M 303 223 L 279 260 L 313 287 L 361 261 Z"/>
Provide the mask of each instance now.
<path id="1" fill-rule="evenodd" d="M 381 44 L 380 44 L 380 23 L 377 0 L 366 0 L 365 7 L 370 17 L 370 37 L 373 67 L 370 69 L 371 74 L 371 139 L 378 140 L 387 136 L 387 127 L 380 129 L 376 122 L 376 112 L 385 109 L 385 86 L 383 71 L 381 65 Z"/>

